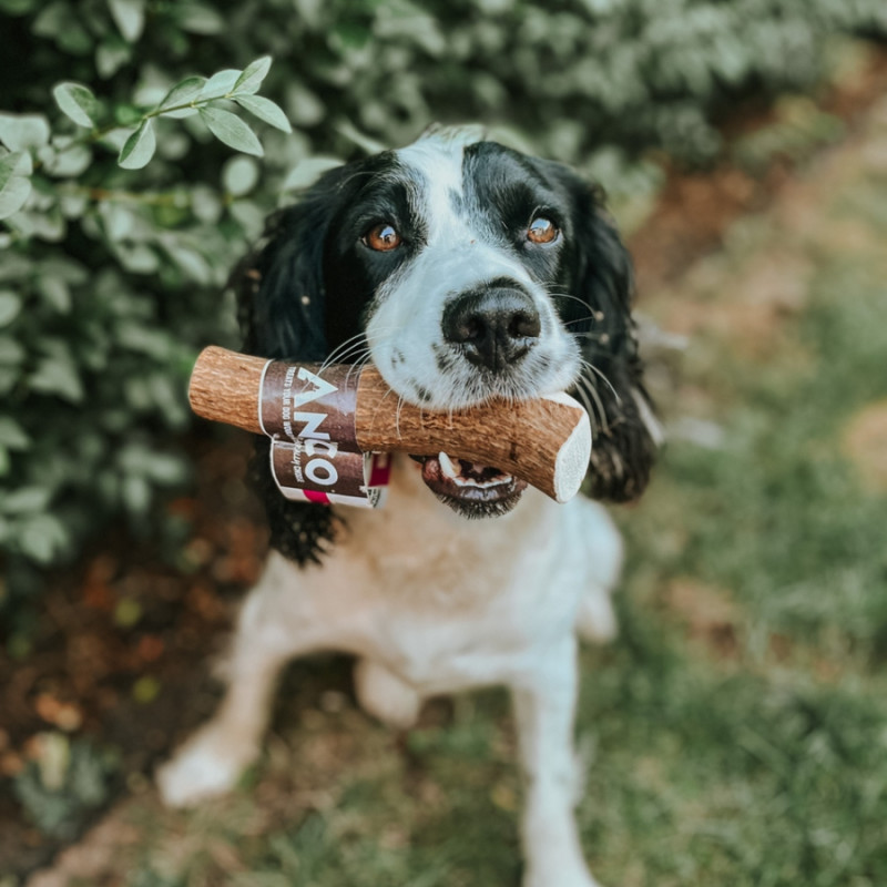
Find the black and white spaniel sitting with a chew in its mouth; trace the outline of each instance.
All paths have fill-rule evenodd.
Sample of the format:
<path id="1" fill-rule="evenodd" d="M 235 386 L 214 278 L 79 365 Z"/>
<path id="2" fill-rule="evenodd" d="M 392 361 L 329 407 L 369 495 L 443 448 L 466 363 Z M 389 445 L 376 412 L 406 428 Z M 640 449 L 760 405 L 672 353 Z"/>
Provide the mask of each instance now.
<path id="1" fill-rule="evenodd" d="M 395 396 L 434 410 L 573 392 L 593 428 L 588 496 L 557 504 L 458 453 L 398 456 L 386 507 L 344 514 L 285 499 L 259 439 L 273 550 L 226 695 L 160 769 L 162 797 L 230 789 L 259 753 L 282 666 L 343 651 L 363 707 L 400 728 L 429 696 L 506 685 L 527 781 L 523 885 L 594 885 L 573 815 L 577 646 L 614 635 L 622 562 L 595 500 L 636 498 L 660 441 L 631 261 L 602 191 L 472 129 L 432 128 L 325 173 L 241 272 L 253 354 L 371 360 Z"/>

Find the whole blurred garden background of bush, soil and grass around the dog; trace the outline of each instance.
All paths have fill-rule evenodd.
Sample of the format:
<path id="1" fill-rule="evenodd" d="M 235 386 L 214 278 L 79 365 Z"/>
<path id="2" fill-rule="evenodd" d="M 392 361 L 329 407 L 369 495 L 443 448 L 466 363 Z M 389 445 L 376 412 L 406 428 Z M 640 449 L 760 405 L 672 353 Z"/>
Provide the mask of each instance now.
<path id="1" fill-rule="evenodd" d="M 498 692 L 396 736 L 297 663 L 243 791 L 151 786 L 266 546 L 185 399 L 228 272 L 434 121 L 600 181 L 638 266 L 670 442 L 582 653 L 592 870 L 887 883 L 886 37 L 883 0 L 0 0 L 0 887 L 519 883 Z"/>

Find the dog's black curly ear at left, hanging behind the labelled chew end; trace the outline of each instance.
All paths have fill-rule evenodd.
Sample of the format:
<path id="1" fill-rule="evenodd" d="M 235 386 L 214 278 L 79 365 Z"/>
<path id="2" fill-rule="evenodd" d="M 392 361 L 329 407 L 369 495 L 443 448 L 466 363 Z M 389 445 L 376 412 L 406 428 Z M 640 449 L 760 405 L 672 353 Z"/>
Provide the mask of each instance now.
<path id="1" fill-rule="evenodd" d="M 257 248 L 235 269 L 247 354 L 307 363 L 327 357 L 323 256 L 340 181 L 340 169 L 327 173 L 298 204 L 273 215 Z M 299 564 L 318 561 L 333 542 L 336 513 L 285 499 L 271 475 L 269 450 L 268 438 L 257 437 L 248 473 L 265 507 L 271 546 Z"/>

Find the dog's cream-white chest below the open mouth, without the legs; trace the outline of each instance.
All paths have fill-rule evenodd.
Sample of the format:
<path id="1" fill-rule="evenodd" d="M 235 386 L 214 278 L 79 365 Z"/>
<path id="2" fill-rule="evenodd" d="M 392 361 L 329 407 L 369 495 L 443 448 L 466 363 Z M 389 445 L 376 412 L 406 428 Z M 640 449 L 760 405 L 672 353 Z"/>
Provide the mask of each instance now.
<path id="1" fill-rule="evenodd" d="M 563 507 L 530 491 L 506 518 L 466 521 L 411 466 L 399 472 L 386 510 L 354 514 L 299 583 L 300 618 L 328 646 L 380 660 L 426 692 L 501 681 L 573 619 L 581 578 Z"/>

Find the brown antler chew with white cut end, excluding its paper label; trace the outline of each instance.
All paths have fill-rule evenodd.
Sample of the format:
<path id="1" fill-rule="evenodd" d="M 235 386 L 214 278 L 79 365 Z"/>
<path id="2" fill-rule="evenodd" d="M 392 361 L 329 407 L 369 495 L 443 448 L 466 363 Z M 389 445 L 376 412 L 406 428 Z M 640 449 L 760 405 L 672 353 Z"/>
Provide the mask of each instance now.
<path id="1" fill-rule="evenodd" d="M 259 415 L 268 364 L 262 357 L 205 348 L 191 377 L 192 409 L 254 434 L 271 430 L 263 428 Z M 585 476 L 591 427 L 585 410 L 565 394 L 440 412 L 399 401 L 374 367 L 360 371 L 356 387 L 355 437 L 365 452 L 447 452 L 495 466 L 558 502 L 572 498 Z"/>

